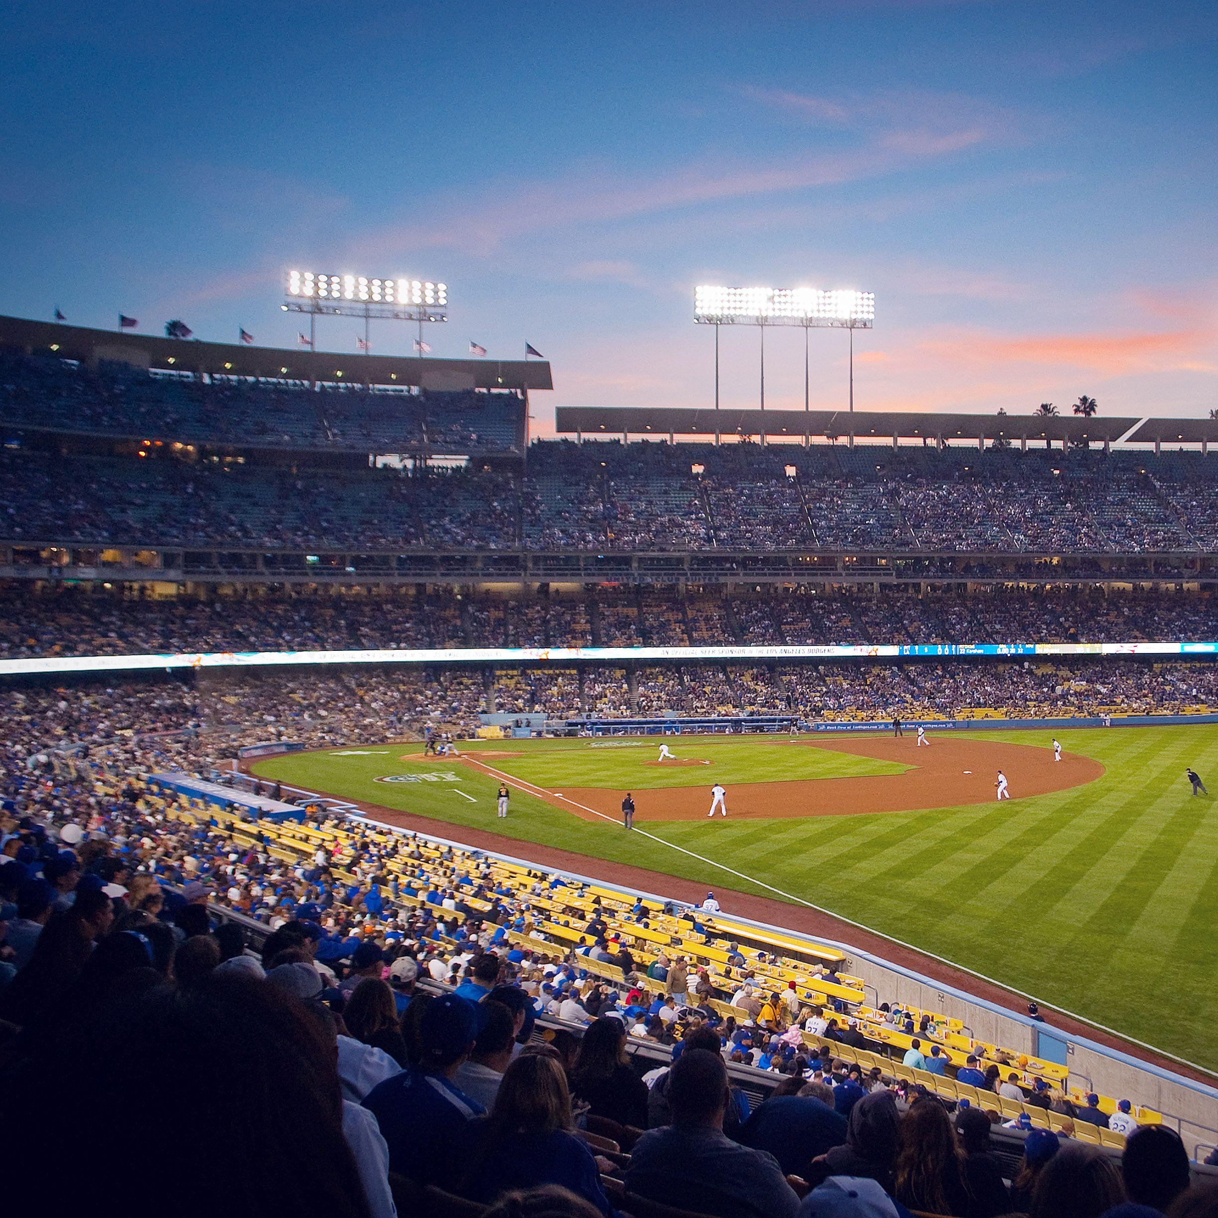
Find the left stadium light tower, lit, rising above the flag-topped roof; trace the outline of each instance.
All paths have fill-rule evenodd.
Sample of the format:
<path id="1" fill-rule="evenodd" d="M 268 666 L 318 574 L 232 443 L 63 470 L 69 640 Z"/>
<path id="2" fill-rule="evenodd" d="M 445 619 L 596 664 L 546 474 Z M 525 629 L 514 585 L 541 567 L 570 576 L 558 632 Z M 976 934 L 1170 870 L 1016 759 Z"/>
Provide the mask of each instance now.
<path id="1" fill-rule="evenodd" d="M 448 285 L 423 279 L 370 279 L 367 275 L 328 275 L 313 270 L 289 270 L 284 276 L 285 313 L 308 314 L 309 348 L 317 350 L 319 317 L 362 317 L 363 350 L 371 350 L 369 323 L 375 318 L 418 322 L 415 351 L 424 353 L 424 322 L 448 320 Z"/>

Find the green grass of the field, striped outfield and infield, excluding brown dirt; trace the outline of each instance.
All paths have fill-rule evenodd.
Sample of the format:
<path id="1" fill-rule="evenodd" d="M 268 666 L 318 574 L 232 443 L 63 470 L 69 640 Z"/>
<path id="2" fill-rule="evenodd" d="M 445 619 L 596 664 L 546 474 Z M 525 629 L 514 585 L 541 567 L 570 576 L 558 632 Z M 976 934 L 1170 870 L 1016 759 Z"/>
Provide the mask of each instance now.
<path id="1" fill-rule="evenodd" d="M 968 734 L 1049 744 L 1047 733 L 1044 739 L 1033 732 Z M 1004 804 L 642 827 L 708 860 L 1218 1069 L 1218 808 L 1212 799 L 1190 795 L 1184 778 L 1185 766 L 1192 765 L 1218 793 L 1218 726 L 1057 734 L 1067 752 L 1100 761 L 1105 776 L 1084 787 Z M 637 749 L 594 750 L 588 743 L 514 741 L 485 747 L 519 749 L 521 756 L 492 764 L 558 790 L 563 783 L 636 790 L 704 783 L 698 767 L 665 771 L 639 765 L 658 752 L 650 741 Z M 728 784 L 900 769 L 821 749 L 771 748 L 758 738 L 681 737 L 670 744 L 678 756 L 714 755 L 715 777 Z M 710 887 L 773 895 L 641 834 L 579 820 L 521 792 L 513 792 L 510 817 L 497 820 L 493 778 L 443 761 L 401 760 L 417 745 L 368 748 L 376 752 L 273 758 L 258 762 L 256 771 Z M 728 765 L 739 769 L 730 771 Z M 784 771 L 786 765 L 800 772 Z M 805 766 L 826 769 L 809 772 Z M 374 781 L 379 775 L 423 771 L 452 772 L 457 781 Z M 520 853 L 527 855 L 524 848 Z"/>

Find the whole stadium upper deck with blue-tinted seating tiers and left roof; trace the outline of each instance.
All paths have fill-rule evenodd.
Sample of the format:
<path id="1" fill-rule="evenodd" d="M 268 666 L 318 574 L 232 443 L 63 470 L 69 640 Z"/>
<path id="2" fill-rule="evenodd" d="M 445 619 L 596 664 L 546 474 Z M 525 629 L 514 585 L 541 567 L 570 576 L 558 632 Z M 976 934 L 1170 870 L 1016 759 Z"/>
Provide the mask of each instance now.
<path id="1" fill-rule="evenodd" d="M 354 357 L 368 384 L 352 385 L 308 364 L 322 358 L 0 319 L 0 576 L 1208 582 L 1218 569 L 1208 456 L 1108 451 L 1146 420 L 978 417 L 965 435 L 968 417 L 857 414 L 851 436 L 901 425 L 921 442 L 529 446 L 527 393 L 551 385 L 548 365 Z M 504 392 L 484 392 L 491 381 Z M 808 424 L 822 426 L 842 432 Z M 389 457 L 408 469 L 369 468 Z"/>

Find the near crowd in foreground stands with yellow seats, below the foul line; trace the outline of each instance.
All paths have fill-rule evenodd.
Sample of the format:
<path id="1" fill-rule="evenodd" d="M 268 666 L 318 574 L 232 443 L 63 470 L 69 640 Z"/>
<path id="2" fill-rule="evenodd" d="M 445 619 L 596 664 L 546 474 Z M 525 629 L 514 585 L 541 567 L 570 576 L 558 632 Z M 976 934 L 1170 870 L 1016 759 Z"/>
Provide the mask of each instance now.
<path id="1" fill-rule="evenodd" d="M 1140 1127 L 1128 1102 L 1108 1116 L 1029 1080 L 1028 1102 L 1063 1119 L 1011 1122 L 1023 1155 L 1010 1168 L 991 1130 L 1013 1084 L 996 1069 L 960 1069 L 976 1105 L 864 1071 L 832 1047 L 865 1047 L 853 1021 L 767 994 L 747 970 L 694 974 L 676 952 L 644 977 L 596 904 L 569 906 L 579 948 L 520 946 L 509 932 L 547 938 L 533 903 L 582 894 L 551 872 L 509 885 L 476 851 L 358 826 L 289 861 L 255 821 L 167 817 L 144 775 L 203 760 L 203 737 L 158 734 L 194 711 L 180 691 L 46 699 L 0 745 L 0 1113 L 10 1153 L 55 1179 L 66 1212 L 123 1197 L 151 1216 L 172 1196 L 202 1218 L 214 1196 L 183 1183 L 200 1163 L 223 1166 L 225 1209 L 251 1218 L 389 1218 L 425 1212 L 436 1189 L 497 1218 L 648 1203 L 716 1218 L 1214 1212 L 1179 1136 Z M 51 723 L 88 754 L 49 756 Z M 307 815 L 323 840 L 343 827 Z M 263 924 L 256 950 L 222 909 Z M 899 1006 L 879 1011 L 912 1027 Z M 540 1017 L 557 1030 L 535 1034 Z M 915 1041 L 904 1066 L 920 1056 Z M 767 1072 L 769 1097 L 728 1065 Z M 1125 1134 L 1121 1158 L 1067 1136 L 1082 1122 Z"/>

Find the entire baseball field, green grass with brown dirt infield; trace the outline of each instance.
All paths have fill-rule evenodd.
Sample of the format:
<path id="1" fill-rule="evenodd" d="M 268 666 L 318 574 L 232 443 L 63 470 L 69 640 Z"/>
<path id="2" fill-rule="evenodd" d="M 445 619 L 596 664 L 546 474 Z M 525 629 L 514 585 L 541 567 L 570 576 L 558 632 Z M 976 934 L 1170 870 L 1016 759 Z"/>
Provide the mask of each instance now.
<path id="1" fill-rule="evenodd" d="M 1061 761 L 1047 732 L 929 739 L 682 736 L 671 761 L 657 738 L 480 742 L 459 759 L 370 742 L 253 771 L 386 821 L 515 838 L 525 857 L 537 843 L 808 901 L 1218 1069 L 1218 808 L 1184 776 L 1218 793 L 1218 726 L 1063 731 Z M 726 817 L 706 816 L 714 783 Z"/>

